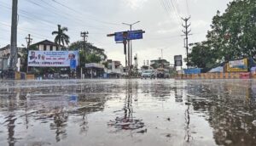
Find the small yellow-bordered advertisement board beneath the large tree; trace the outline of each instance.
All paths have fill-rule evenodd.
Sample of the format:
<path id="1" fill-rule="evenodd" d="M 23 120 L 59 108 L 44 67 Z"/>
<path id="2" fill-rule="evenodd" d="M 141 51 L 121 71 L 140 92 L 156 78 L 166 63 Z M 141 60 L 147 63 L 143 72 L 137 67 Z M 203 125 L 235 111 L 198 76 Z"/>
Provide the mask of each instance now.
<path id="1" fill-rule="evenodd" d="M 230 61 L 227 65 L 227 71 L 228 72 L 247 72 L 248 71 L 247 59 Z"/>

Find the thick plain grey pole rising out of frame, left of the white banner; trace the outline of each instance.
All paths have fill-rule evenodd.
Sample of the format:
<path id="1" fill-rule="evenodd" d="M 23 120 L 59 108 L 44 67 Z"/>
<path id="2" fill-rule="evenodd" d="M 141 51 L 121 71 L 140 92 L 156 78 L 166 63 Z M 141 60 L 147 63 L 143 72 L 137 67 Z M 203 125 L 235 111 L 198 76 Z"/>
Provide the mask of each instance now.
<path id="1" fill-rule="evenodd" d="M 18 59 L 17 25 L 18 25 L 18 0 L 13 0 L 11 42 L 10 42 L 11 50 L 10 50 L 10 62 L 9 62 L 10 70 L 16 70 L 16 64 L 17 64 L 17 59 Z"/>

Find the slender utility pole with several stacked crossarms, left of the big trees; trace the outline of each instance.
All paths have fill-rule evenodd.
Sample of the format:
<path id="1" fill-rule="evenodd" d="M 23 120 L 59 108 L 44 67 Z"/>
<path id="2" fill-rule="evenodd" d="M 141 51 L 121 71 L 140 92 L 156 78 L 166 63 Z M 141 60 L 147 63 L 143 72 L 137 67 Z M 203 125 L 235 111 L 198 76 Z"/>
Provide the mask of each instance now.
<path id="1" fill-rule="evenodd" d="M 187 68 L 189 68 L 189 36 L 191 35 L 190 32 L 191 32 L 191 29 L 189 29 L 189 26 L 191 25 L 190 23 L 188 24 L 188 21 L 190 20 L 190 16 L 189 18 L 182 18 L 182 20 L 185 22 L 185 25 L 183 25 L 185 31 L 183 31 L 184 35 L 185 36 L 185 46 L 184 48 L 186 48 L 186 51 L 187 51 Z"/>

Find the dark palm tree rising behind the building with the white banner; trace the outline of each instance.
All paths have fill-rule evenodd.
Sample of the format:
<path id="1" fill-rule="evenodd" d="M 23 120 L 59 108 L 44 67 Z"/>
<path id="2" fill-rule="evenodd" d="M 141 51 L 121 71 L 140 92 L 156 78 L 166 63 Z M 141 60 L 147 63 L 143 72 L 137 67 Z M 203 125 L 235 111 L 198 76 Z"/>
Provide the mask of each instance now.
<path id="1" fill-rule="evenodd" d="M 68 31 L 67 27 L 62 27 L 61 25 L 58 25 L 58 31 L 53 31 L 52 35 L 55 36 L 55 43 L 59 45 L 59 48 L 61 48 L 61 44 L 65 46 L 65 44 L 68 45 L 69 43 L 69 36 L 65 34 L 65 31 Z"/>

